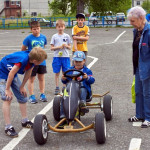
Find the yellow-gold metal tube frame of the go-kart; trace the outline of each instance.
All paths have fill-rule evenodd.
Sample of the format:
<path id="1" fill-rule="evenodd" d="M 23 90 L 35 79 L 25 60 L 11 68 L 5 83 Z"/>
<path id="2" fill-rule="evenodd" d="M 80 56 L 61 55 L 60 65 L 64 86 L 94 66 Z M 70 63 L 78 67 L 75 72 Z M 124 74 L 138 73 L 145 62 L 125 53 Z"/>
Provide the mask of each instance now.
<path id="1" fill-rule="evenodd" d="M 92 98 L 101 98 L 103 96 L 105 96 L 106 94 L 108 94 L 108 92 L 104 93 L 103 95 L 99 95 L 99 94 L 93 94 L 92 95 Z M 59 94 L 60 96 L 63 96 L 61 94 Z M 86 106 L 90 109 L 95 109 L 95 108 L 98 108 L 100 109 L 101 108 L 101 103 L 86 103 Z M 78 129 L 75 129 L 74 126 L 72 125 L 72 121 L 69 122 L 68 125 L 65 125 L 64 126 L 64 129 L 58 129 L 58 126 L 63 123 L 64 121 L 66 121 L 67 119 L 66 118 L 63 118 L 62 120 L 60 120 L 54 127 L 52 127 L 50 124 L 48 124 L 48 128 L 49 130 L 52 130 L 54 132 L 62 132 L 62 133 L 65 133 L 65 132 L 83 132 L 83 131 L 86 131 L 86 130 L 89 130 L 89 129 L 93 129 L 94 128 L 94 123 L 88 125 L 88 126 L 85 126 L 78 118 L 75 118 L 74 121 L 76 121 L 80 126 L 81 128 L 78 128 Z"/>

